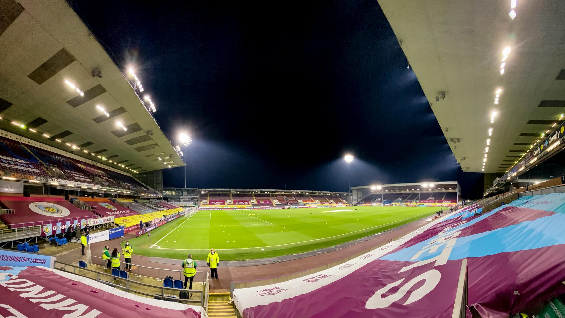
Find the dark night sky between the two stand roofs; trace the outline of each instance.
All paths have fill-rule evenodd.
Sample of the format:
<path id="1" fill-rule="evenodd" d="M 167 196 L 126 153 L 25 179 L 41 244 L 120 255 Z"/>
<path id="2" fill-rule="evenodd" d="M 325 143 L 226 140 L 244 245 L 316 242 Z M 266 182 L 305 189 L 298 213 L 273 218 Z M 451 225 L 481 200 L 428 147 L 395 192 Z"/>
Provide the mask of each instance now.
<path id="1" fill-rule="evenodd" d="M 463 173 L 375 0 L 190 3 L 68 0 L 133 65 L 176 144 L 187 186 L 346 191 Z M 157 3 L 157 4 L 156 4 Z M 164 186 L 183 186 L 182 167 Z"/>

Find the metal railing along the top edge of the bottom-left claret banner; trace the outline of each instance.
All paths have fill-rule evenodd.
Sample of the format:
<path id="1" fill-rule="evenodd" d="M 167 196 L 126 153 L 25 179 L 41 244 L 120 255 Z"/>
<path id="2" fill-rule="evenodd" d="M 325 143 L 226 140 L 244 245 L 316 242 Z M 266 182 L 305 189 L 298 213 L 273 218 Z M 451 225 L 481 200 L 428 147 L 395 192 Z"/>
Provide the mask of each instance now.
<path id="1" fill-rule="evenodd" d="M 62 265 L 61 268 L 58 268 L 57 265 Z M 103 284 L 109 285 L 109 286 L 114 286 L 116 288 L 119 289 L 125 289 L 125 291 L 127 291 L 128 293 L 135 293 L 135 294 L 141 294 L 141 295 L 145 295 L 145 296 L 151 296 L 153 298 L 156 299 L 162 299 L 162 300 L 169 300 L 169 301 L 175 301 L 175 302 L 180 302 L 180 303 L 186 303 L 186 304 L 196 304 L 199 306 L 204 307 L 205 304 L 205 292 L 202 290 L 196 290 L 196 289 L 179 289 L 179 288 L 173 288 L 173 287 L 164 287 L 164 286 L 156 286 L 156 285 L 150 285 L 150 284 L 146 284 L 146 283 L 142 283 L 142 282 L 137 282 L 137 281 L 133 281 L 130 280 L 129 278 L 121 278 L 121 277 L 117 277 L 117 276 L 112 276 L 112 274 L 108 274 L 108 273 L 103 273 L 103 272 L 97 272 L 96 270 L 92 270 L 92 269 L 88 269 L 88 268 L 83 268 L 83 267 L 79 267 L 77 265 L 72 265 L 72 264 L 67 264 L 67 263 L 62 263 L 60 261 L 54 261 L 53 262 L 53 267 L 55 269 L 58 270 L 63 270 L 64 272 L 68 272 L 70 273 L 69 270 L 67 270 L 64 267 L 71 267 L 72 268 L 72 273 L 82 276 L 82 277 L 86 277 L 86 278 L 90 278 L 91 280 L 95 280 L 98 282 L 101 282 Z M 79 273 L 77 273 L 77 269 L 79 270 Z M 84 270 L 84 275 L 80 274 L 80 270 Z M 94 273 L 96 274 L 96 278 L 92 278 L 89 276 L 86 276 L 86 272 L 90 272 L 90 273 Z M 112 278 L 115 278 L 116 280 L 119 280 L 120 283 L 116 284 L 116 283 L 112 283 L 112 282 L 108 282 L 105 280 L 102 280 L 100 277 L 110 277 L 112 280 Z M 125 282 L 125 286 L 121 285 L 121 282 Z M 130 286 L 132 285 L 132 286 Z M 134 290 L 132 289 L 132 287 L 134 286 L 143 286 L 143 287 L 150 287 L 153 289 L 157 289 L 160 290 L 160 294 L 148 294 L 148 293 L 144 293 L 143 291 L 140 290 Z M 207 285 L 207 284 L 206 284 Z M 180 293 L 182 291 L 186 292 L 186 293 L 192 293 L 192 294 L 200 294 L 200 299 L 182 299 L 182 298 L 173 298 L 171 296 L 167 296 L 165 295 L 165 291 L 169 291 L 169 292 L 173 292 L 173 293 Z"/>

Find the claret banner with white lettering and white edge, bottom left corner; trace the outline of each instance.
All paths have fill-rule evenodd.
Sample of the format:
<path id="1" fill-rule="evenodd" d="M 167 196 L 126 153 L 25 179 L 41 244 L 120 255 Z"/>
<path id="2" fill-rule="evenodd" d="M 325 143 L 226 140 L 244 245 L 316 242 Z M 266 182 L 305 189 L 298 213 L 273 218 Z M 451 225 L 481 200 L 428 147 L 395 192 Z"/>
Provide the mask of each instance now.
<path id="1" fill-rule="evenodd" d="M 43 266 L 0 267 L 0 295 L 3 317 L 208 317 L 201 306 L 145 298 Z"/>

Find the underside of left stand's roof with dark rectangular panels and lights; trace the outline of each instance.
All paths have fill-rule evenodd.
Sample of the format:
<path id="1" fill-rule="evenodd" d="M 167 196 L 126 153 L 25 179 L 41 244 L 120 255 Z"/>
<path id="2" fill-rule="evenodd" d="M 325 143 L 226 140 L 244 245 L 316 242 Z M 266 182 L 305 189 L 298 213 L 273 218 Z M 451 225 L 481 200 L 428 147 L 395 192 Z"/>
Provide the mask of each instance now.
<path id="1" fill-rule="evenodd" d="M 137 80 L 64 0 L 0 3 L 0 129 L 129 173 L 184 165 Z"/>

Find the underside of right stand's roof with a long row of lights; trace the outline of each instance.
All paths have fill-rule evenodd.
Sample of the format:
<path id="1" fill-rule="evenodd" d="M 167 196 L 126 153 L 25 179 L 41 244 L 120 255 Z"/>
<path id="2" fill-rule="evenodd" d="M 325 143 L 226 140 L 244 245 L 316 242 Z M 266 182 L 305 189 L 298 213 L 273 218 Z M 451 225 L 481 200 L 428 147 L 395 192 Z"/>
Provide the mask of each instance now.
<path id="1" fill-rule="evenodd" d="M 463 171 L 489 147 L 484 172 L 505 172 L 565 119 L 561 0 L 518 0 L 514 19 L 510 0 L 379 4 Z"/>

